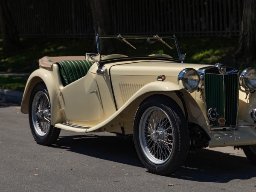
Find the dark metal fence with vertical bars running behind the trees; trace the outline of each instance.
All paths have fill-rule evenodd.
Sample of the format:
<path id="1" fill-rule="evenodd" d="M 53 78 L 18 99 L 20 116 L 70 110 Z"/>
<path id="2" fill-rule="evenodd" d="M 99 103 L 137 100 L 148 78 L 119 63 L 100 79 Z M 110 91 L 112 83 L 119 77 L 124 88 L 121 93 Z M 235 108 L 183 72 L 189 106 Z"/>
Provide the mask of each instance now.
<path id="1" fill-rule="evenodd" d="M 114 34 L 239 35 L 242 2 L 111 0 Z M 94 36 L 88 0 L 9 0 L 8 3 L 21 37 Z"/>

